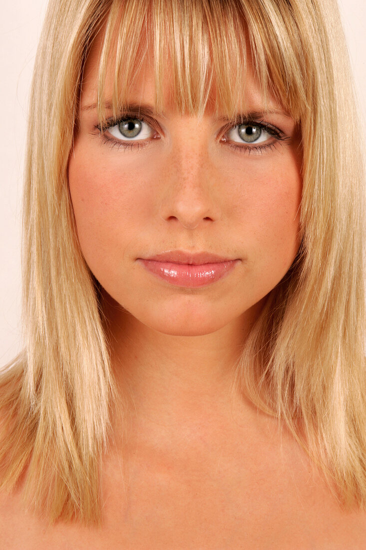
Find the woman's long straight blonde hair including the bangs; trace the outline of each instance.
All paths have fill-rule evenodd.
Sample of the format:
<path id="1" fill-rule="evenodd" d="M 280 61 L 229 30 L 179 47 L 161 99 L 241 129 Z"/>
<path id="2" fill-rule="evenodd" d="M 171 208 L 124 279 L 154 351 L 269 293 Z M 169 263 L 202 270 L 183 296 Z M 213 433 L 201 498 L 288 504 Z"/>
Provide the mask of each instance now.
<path id="1" fill-rule="evenodd" d="M 285 421 L 345 505 L 365 507 L 364 172 L 335 0 L 50 2 L 28 133 L 26 346 L 0 377 L 2 487 L 12 489 L 26 469 L 26 502 L 49 521 L 101 518 L 101 456 L 117 397 L 67 180 L 82 72 L 97 35 L 101 118 L 107 70 L 115 72 L 117 112 L 152 48 L 157 110 L 169 55 L 180 112 L 202 116 L 215 84 L 217 111 L 234 116 L 249 52 L 264 94 L 301 124 L 301 246 L 243 343 L 237 381 Z"/>

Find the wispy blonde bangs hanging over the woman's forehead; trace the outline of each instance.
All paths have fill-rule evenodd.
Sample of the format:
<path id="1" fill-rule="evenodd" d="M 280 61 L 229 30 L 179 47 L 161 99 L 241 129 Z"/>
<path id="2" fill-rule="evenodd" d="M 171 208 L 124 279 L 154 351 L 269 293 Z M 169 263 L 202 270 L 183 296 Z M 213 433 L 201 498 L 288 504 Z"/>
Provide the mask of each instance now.
<path id="1" fill-rule="evenodd" d="M 213 102 L 215 116 L 234 120 L 245 97 L 249 56 L 264 107 L 274 98 L 298 121 L 308 106 L 303 51 L 286 0 L 112 0 L 99 62 L 98 116 L 105 120 L 106 103 L 114 116 L 127 109 L 129 90 L 148 58 L 155 113 L 164 111 L 168 85 L 179 113 L 201 118 Z"/>

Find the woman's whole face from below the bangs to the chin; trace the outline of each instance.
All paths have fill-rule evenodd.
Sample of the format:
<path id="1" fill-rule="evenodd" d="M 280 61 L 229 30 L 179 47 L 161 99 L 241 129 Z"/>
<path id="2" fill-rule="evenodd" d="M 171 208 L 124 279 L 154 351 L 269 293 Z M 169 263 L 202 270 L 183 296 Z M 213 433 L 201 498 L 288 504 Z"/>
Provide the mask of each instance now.
<path id="1" fill-rule="evenodd" d="M 69 160 L 77 234 L 92 273 L 132 316 L 165 334 L 208 334 L 252 321 L 298 250 L 295 123 L 274 101 L 263 112 L 250 67 L 240 98 L 245 125 L 233 127 L 209 109 L 201 123 L 180 116 L 169 89 L 164 114 L 153 116 L 146 63 L 129 97 L 140 115 L 131 107 L 101 133 L 97 53 L 95 46 L 87 61 Z M 202 267 L 209 259 L 181 253 L 169 263 L 142 261 L 177 250 L 235 261 Z M 199 265 L 176 263 L 190 261 Z"/>

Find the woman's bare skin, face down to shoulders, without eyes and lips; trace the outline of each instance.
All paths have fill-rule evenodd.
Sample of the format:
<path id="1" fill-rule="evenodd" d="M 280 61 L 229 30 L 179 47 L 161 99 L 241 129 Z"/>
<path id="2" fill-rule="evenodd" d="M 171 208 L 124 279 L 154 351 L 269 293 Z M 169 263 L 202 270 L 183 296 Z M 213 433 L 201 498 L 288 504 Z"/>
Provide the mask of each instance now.
<path id="1" fill-rule="evenodd" d="M 285 427 L 231 391 L 242 342 L 298 249 L 293 120 L 266 115 L 289 139 L 249 155 L 221 141 L 225 124 L 212 112 L 202 124 L 176 113 L 167 90 L 159 138 L 145 149 L 111 147 L 85 108 L 95 103 L 97 52 L 87 61 L 69 185 L 81 250 L 103 287 L 112 367 L 129 413 L 125 437 L 114 418 L 101 527 L 48 527 L 23 510 L 19 491 L 0 498 L 4 547 L 364 548 L 364 514 L 346 513 Z M 148 66 L 131 102 L 152 104 Z M 247 81 L 242 112 L 260 111 L 250 71 Z M 240 262 L 220 281 L 187 290 L 136 261 L 170 249 Z"/>

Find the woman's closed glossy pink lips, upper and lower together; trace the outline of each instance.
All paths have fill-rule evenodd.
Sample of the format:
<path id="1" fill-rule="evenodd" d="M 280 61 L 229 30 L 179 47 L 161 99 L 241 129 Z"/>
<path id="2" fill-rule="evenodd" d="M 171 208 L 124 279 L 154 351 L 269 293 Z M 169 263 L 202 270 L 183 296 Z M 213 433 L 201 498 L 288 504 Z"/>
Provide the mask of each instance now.
<path id="1" fill-rule="evenodd" d="M 214 283 L 229 273 L 240 260 L 231 260 L 208 252 L 163 252 L 147 259 L 139 258 L 153 275 L 177 287 L 199 288 Z"/>

